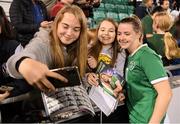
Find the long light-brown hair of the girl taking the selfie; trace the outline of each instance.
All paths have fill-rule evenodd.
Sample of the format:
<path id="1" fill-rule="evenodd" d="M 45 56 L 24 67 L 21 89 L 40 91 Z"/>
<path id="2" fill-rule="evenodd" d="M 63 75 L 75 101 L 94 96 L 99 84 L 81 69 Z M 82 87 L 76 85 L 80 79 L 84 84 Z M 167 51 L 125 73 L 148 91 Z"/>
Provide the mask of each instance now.
<path id="1" fill-rule="evenodd" d="M 57 36 L 58 23 L 63 19 L 64 13 L 72 13 L 80 22 L 81 32 L 77 41 L 67 46 L 68 60 L 65 62 L 63 54 L 63 45 Z M 73 64 L 77 59 L 80 75 L 83 76 L 87 64 L 87 20 L 83 11 L 76 5 L 66 5 L 56 15 L 52 25 L 51 36 L 51 50 L 52 58 L 55 67 L 64 67 L 68 64 Z"/>

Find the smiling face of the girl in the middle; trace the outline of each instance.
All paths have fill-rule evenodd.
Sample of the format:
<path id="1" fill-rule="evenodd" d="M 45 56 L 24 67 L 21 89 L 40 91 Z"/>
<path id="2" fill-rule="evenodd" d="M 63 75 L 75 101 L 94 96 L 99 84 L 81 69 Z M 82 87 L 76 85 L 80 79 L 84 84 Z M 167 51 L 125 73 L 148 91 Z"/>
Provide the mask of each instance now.
<path id="1" fill-rule="evenodd" d="M 115 26 L 109 21 L 103 21 L 98 30 L 98 39 L 104 45 L 114 42 L 116 36 Z"/>

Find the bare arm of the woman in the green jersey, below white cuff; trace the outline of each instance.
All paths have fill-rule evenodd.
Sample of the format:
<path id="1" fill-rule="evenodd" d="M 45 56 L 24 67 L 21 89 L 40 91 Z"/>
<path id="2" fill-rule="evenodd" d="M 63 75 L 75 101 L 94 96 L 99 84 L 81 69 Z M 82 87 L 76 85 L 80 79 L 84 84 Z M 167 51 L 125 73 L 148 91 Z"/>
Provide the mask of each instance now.
<path id="1" fill-rule="evenodd" d="M 160 123 L 166 114 L 170 99 L 172 97 L 172 91 L 169 86 L 168 80 L 158 82 L 153 85 L 157 91 L 157 98 L 153 114 L 149 123 Z"/>

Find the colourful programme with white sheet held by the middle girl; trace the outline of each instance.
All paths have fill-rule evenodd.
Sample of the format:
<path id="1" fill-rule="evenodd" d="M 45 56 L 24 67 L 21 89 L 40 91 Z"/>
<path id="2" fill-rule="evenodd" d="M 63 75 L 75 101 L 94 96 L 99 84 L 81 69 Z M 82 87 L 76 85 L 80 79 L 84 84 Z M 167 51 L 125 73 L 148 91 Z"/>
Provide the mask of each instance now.
<path id="1" fill-rule="evenodd" d="M 118 105 L 113 91 L 117 88 L 117 85 L 123 87 L 125 81 L 114 68 L 103 61 L 100 61 L 96 74 L 99 78 L 99 86 L 91 87 L 89 97 L 106 116 L 109 116 Z"/>

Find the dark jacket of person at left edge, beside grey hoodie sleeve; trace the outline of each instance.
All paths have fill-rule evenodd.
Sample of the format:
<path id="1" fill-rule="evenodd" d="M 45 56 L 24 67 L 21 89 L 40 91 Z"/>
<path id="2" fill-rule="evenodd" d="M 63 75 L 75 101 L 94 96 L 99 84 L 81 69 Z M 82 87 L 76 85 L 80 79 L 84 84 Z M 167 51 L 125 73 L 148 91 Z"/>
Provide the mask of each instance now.
<path id="1" fill-rule="evenodd" d="M 32 89 L 24 79 L 14 79 L 4 72 L 6 70 L 5 65 L 7 60 L 15 53 L 18 45 L 19 43 L 15 40 L 2 41 L 0 38 L 0 85 L 7 85 L 14 88 L 9 97 L 26 93 Z"/>

